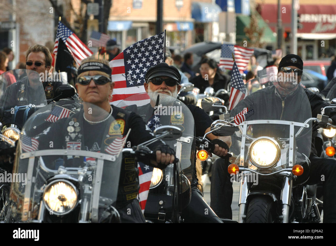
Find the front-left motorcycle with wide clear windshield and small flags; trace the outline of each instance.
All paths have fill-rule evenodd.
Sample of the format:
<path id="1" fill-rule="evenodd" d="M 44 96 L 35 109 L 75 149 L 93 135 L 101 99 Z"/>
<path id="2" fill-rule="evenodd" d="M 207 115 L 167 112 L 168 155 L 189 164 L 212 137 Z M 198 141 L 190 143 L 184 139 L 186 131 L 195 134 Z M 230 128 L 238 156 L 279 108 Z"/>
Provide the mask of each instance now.
<path id="1" fill-rule="evenodd" d="M 49 104 L 36 111 L 20 133 L 13 173 L 27 174 L 27 183 L 12 182 L 6 222 L 119 223 L 120 215 L 115 203 L 122 153 L 140 159 L 153 159 L 155 153 L 145 145 L 123 149 L 127 136 L 122 144 L 115 146 L 113 153 L 82 150 L 81 145 L 84 143 L 80 135 L 87 136 L 92 130 L 84 127 L 80 129 L 81 112 L 91 109 L 94 112 L 91 116 L 93 121 L 109 115 L 106 110 L 84 102 L 83 109 L 62 109 L 69 117 L 64 121 L 69 126 L 66 131 L 53 134 L 52 144 L 56 148 L 50 149 L 47 147 L 51 144 L 47 134 L 54 127 L 53 124 L 58 124 L 54 123 L 52 117 L 55 107 L 62 107 L 62 102 Z M 104 126 L 110 127 L 114 120 L 110 116 Z M 152 141 L 164 137 L 171 139 L 178 132 L 176 129 L 161 129 L 162 134 Z M 76 137 L 79 139 L 74 142 Z M 122 136 L 113 135 L 113 139 L 106 140 L 107 145 L 112 146 L 116 139 L 122 139 Z"/>

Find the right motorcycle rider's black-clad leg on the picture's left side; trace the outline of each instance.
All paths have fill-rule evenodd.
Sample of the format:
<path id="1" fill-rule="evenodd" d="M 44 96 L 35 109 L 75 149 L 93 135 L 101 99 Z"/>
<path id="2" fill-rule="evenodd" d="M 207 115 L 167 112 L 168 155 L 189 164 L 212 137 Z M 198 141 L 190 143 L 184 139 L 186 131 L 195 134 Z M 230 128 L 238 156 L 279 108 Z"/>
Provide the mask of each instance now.
<path id="1" fill-rule="evenodd" d="M 228 165 L 229 162 L 218 158 L 211 166 L 210 207 L 220 218 L 232 219 L 233 188 Z"/>

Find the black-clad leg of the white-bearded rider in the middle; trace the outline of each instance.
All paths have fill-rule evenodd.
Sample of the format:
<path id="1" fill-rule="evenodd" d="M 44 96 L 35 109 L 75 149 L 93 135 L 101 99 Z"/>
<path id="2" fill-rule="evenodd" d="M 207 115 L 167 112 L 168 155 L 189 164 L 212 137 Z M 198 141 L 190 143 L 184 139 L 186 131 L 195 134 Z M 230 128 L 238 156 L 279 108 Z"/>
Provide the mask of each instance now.
<path id="1" fill-rule="evenodd" d="M 196 186 L 191 188 L 191 201 L 182 210 L 181 217 L 186 223 L 223 223 L 202 197 Z"/>

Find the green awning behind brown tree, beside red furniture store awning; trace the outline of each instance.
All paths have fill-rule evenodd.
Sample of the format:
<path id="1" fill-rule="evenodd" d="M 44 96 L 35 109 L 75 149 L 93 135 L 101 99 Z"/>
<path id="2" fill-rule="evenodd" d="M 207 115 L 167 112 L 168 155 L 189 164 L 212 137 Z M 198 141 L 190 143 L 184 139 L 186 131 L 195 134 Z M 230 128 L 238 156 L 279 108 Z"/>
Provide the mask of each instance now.
<path id="1" fill-rule="evenodd" d="M 257 16 L 258 19 L 258 26 L 260 28 L 265 28 L 264 33 L 261 37 L 261 42 L 265 43 L 275 43 L 277 42 L 277 37 L 273 35 L 273 31 L 268 27 L 267 23 L 263 20 L 261 16 Z M 236 16 L 236 42 L 240 42 L 243 40 L 249 41 L 249 39 L 246 37 L 246 34 L 244 32 L 245 27 L 250 26 L 250 16 L 248 15 L 237 15 Z"/>

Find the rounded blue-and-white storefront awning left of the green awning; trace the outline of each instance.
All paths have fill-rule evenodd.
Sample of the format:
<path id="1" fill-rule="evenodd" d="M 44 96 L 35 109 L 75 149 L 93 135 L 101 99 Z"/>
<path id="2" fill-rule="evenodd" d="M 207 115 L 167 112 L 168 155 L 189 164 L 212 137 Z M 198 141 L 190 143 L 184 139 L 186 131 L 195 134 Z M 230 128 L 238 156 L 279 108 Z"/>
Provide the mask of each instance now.
<path id="1" fill-rule="evenodd" d="M 192 3 L 192 18 L 197 22 L 218 21 L 221 11 L 222 9 L 217 4 L 203 2 Z"/>

